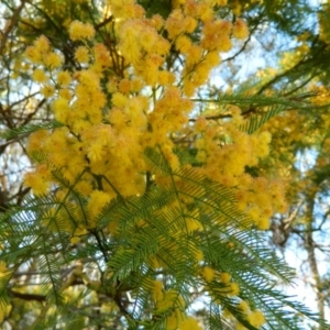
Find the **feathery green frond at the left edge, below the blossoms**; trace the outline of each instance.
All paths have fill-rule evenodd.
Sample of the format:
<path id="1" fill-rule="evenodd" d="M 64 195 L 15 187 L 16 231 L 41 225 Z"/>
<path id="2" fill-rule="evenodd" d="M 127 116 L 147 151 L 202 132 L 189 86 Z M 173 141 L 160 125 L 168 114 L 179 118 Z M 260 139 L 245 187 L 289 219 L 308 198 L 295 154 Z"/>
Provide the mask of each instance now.
<path id="1" fill-rule="evenodd" d="M 15 264 L 13 272 L 16 272 L 19 268 L 26 270 L 34 258 L 38 270 L 35 282 L 55 304 L 62 301 L 61 272 L 69 262 L 66 257 L 69 249 L 66 219 L 75 208 L 50 195 L 28 197 L 22 207 L 13 207 L 0 215 L 1 261 L 8 265 Z"/>

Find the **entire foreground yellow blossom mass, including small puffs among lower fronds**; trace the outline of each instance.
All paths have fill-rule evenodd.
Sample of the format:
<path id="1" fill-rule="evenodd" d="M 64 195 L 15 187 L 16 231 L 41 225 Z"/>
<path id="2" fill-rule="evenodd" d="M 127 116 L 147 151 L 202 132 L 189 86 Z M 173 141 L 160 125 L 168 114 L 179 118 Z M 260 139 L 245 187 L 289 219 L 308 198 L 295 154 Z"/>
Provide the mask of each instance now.
<path id="1" fill-rule="evenodd" d="M 111 200 L 145 194 L 147 177 L 160 186 L 168 185 L 169 177 L 152 173 L 144 153 L 147 148 L 157 150 L 170 168 L 178 170 L 187 166 L 178 156 L 180 141 L 186 140 L 197 152 L 196 172 L 232 189 L 239 208 L 253 226 L 268 229 L 271 216 L 286 208 L 283 186 L 276 179 L 252 177 L 245 168 L 267 156 L 271 134 L 243 132 L 244 119 L 237 107 L 228 109 L 232 119 L 220 124 L 204 114 L 196 118 L 191 100 L 221 62 L 221 53 L 230 51 L 235 38 L 248 37 L 244 21 L 237 19 L 232 23 L 215 18 L 213 7 L 226 6 L 227 1 L 175 1 L 175 9 L 166 19 L 146 18 L 144 9 L 133 0 L 108 2 L 114 18 L 113 44 L 100 43 L 89 23 L 69 24 L 78 64 L 75 72 L 65 69 L 64 58 L 52 50 L 45 36 L 26 50 L 28 58 L 35 65 L 32 77 L 63 125 L 30 138 L 30 155 L 38 153 L 43 157 L 34 172 L 26 174 L 25 185 L 37 196 L 57 187 L 58 198 L 64 198 L 69 188 L 53 175 L 59 170 L 72 188 L 86 198 L 88 218 L 76 223 L 76 228 L 64 227 L 76 243 L 79 232 L 99 226 L 102 209 Z M 200 37 L 191 37 L 198 26 Z M 170 63 L 173 52 L 179 53 L 180 63 Z M 185 184 L 176 184 L 184 191 Z M 189 215 L 185 221 L 187 233 L 191 234 L 204 229 L 197 220 L 198 210 L 188 209 L 188 199 L 182 196 L 177 207 Z M 142 219 L 140 227 L 145 223 Z M 116 234 L 114 221 L 108 231 Z M 170 249 L 180 246 L 174 243 Z M 204 264 L 202 252 L 197 246 L 194 251 L 196 263 L 202 265 L 196 276 L 209 295 L 216 301 L 219 297 L 238 296 L 240 286 L 231 275 Z M 165 267 L 156 255 L 148 264 Z M 221 288 L 215 288 L 215 283 L 221 283 Z M 173 308 L 166 329 L 201 329 L 197 320 L 185 315 L 176 292 L 166 290 L 160 280 L 150 290 L 158 311 Z M 241 305 L 245 312 L 249 308 Z M 256 328 L 265 321 L 260 311 L 250 309 L 246 320 Z"/>

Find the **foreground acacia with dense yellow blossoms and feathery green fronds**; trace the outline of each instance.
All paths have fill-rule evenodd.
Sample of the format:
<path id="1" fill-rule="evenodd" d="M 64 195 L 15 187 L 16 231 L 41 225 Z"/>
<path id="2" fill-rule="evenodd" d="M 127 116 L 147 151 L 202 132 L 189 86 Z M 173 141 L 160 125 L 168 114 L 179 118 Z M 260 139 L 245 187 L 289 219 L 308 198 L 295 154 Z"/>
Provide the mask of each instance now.
<path id="1" fill-rule="evenodd" d="M 7 7 L 3 151 L 19 142 L 32 168 L 2 204 L 3 327 L 300 329 L 302 316 L 317 320 L 274 289 L 294 272 L 263 233 L 288 208 L 267 166 L 270 120 L 310 109 L 306 95 L 208 87 L 221 54 L 249 38 L 239 3 Z M 18 40 L 8 38 L 13 30 Z M 13 101 L 25 81 L 31 91 Z"/>

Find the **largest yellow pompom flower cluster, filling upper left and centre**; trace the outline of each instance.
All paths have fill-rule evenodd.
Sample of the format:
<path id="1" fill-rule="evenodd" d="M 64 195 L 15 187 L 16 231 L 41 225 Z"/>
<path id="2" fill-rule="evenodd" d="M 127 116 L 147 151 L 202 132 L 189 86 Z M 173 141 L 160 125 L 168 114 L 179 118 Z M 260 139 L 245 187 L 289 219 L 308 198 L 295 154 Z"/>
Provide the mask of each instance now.
<path id="1" fill-rule="evenodd" d="M 109 1 L 109 4 L 120 19 L 116 23 L 116 56 L 105 44 L 90 45 L 95 30 L 78 21 L 70 23 L 68 32 L 73 41 L 84 44 L 75 51 L 75 59 L 84 69 L 75 73 L 58 69 L 62 57 L 52 52 L 45 36 L 26 50 L 31 62 L 46 68 L 36 68 L 33 77 L 43 84 L 42 94 L 54 99 L 55 119 L 65 125 L 51 134 L 37 132 L 31 136 L 30 153 L 37 151 L 47 156 L 47 162 L 25 177 L 25 184 L 36 195 L 45 194 L 51 187 L 54 168 L 61 168 L 86 197 L 99 188 L 95 175 L 107 178 L 102 179 L 102 190 L 110 199 L 118 193 L 123 196 L 142 194 L 147 169 L 143 152 L 150 146 L 161 147 L 170 165 L 177 168 L 179 162 L 170 134 L 188 125 L 188 114 L 194 107 L 183 91 L 187 96 L 194 94 L 219 63 L 221 50 L 211 46 L 215 28 L 223 26 L 216 36 L 219 46 L 232 30 L 229 22 L 213 19 L 212 6 L 222 6 L 222 1 L 179 2 L 165 21 L 160 15 L 146 19 L 144 10 L 133 0 Z M 130 10 L 124 13 L 123 8 Z M 200 23 L 205 28 L 198 44 L 190 41 L 189 33 Z M 160 33 L 164 29 L 168 38 Z M 180 76 L 165 66 L 170 43 L 186 57 Z M 121 56 L 125 61 L 121 64 L 128 67 L 124 70 L 120 66 Z M 105 79 L 108 80 L 106 88 L 101 84 Z M 154 88 L 151 99 L 146 97 L 147 86 Z M 162 89 L 156 91 L 158 87 Z"/>

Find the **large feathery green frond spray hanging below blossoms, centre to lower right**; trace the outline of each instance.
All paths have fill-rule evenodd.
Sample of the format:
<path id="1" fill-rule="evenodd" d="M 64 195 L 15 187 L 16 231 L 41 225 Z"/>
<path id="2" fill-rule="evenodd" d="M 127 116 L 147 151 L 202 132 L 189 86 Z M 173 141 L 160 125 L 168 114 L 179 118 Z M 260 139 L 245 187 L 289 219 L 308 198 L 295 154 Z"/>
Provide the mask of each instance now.
<path id="1" fill-rule="evenodd" d="M 238 297 L 265 311 L 266 318 L 270 316 L 270 329 L 275 329 L 274 324 L 283 329 L 294 324 L 286 319 L 282 321 L 282 316 L 274 320 L 267 311 L 270 301 L 274 306 L 283 304 L 283 308 L 301 309 L 299 304 L 292 305 L 289 300 L 286 304 L 274 289 L 276 278 L 289 284 L 294 272 L 271 249 L 265 248 L 266 238 L 254 230 L 251 220 L 238 209 L 232 191 L 199 177 L 194 168 L 172 170 L 162 154 L 155 151 L 148 150 L 146 157 L 153 172 L 169 176 L 172 184 L 152 186 L 141 197 L 128 198 L 125 204 L 116 200 L 103 209 L 100 228 L 113 222 L 117 224 L 112 238 L 116 243 L 107 264 L 112 273 L 112 285 L 120 280 L 130 283 L 129 289 L 133 293 L 139 290 L 135 296 L 136 310 L 142 312 L 150 304 L 150 293 L 142 283 L 148 276 L 157 276 L 156 262 L 160 274 L 167 278 L 168 288 L 177 289 L 186 297 L 187 305 L 191 305 L 189 290 L 183 288 L 200 287 L 201 282 L 196 278 L 196 273 L 204 265 L 210 265 L 218 272 L 231 274 L 242 293 Z M 189 200 L 187 207 L 180 206 L 183 199 Z M 188 230 L 186 221 L 189 218 L 200 224 L 199 230 Z M 194 262 L 198 251 L 204 253 L 202 263 Z M 217 288 L 223 289 L 223 284 L 212 282 L 210 287 L 217 292 Z M 217 301 L 248 329 L 255 329 L 240 316 L 237 298 L 221 294 Z M 315 317 L 307 309 L 301 309 L 301 314 L 311 319 Z M 165 317 L 164 314 L 161 319 Z M 210 324 L 213 317 L 210 317 Z M 221 319 L 221 312 L 218 318 Z M 222 328 L 226 327 L 223 323 Z"/>

